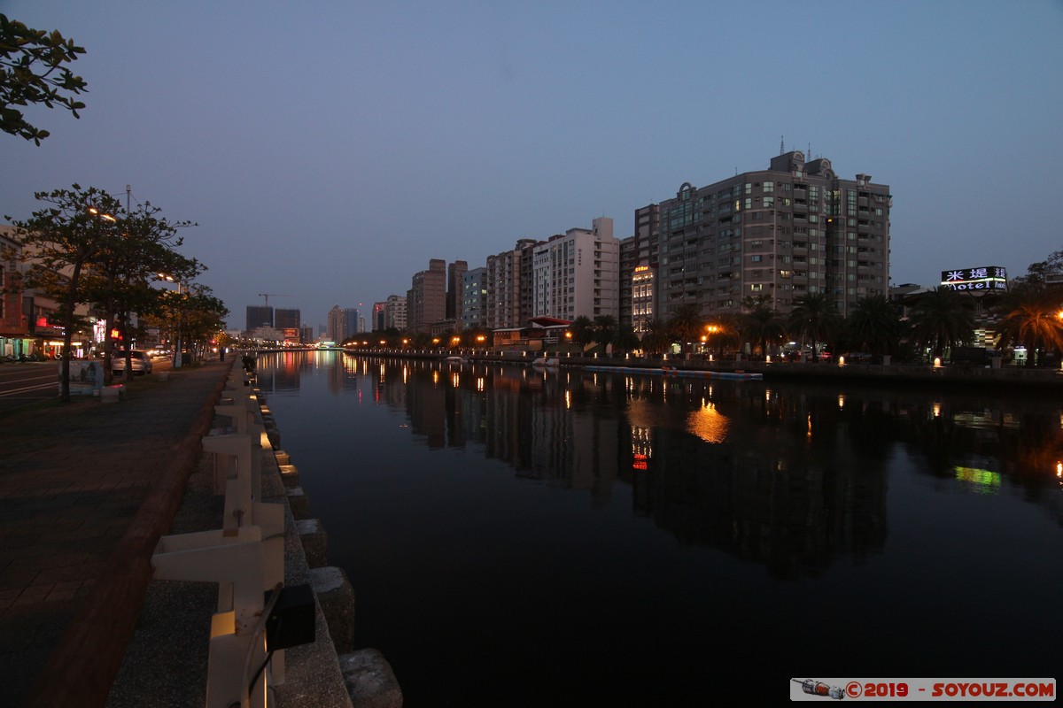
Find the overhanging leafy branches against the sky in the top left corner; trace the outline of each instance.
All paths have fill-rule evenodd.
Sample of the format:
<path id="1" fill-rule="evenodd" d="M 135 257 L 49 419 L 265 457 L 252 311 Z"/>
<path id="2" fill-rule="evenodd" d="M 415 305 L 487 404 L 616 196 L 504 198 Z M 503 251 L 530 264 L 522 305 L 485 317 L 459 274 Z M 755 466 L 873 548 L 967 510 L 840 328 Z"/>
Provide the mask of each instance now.
<path id="1" fill-rule="evenodd" d="M 74 97 L 87 92 L 85 81 L 64 66 L 85 49 L 58 30 L 32 30 L 0 15 L 0 129 L 40 144 L 50 134 L 31 125 L 13 106 L 60 105 L 80 118 L 85 104 Z"/>

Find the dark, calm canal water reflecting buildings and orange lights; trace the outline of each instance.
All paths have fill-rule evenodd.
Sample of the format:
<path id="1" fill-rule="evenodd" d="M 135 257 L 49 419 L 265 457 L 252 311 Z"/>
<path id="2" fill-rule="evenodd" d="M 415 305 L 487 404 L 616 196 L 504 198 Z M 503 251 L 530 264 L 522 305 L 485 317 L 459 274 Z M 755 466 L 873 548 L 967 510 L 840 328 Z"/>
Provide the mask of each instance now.
<path id="1" fill-rule="evenodd" d="M 1056 398 L 341 352 L 258 382 L 410 708 L 1063 667 Z"/>

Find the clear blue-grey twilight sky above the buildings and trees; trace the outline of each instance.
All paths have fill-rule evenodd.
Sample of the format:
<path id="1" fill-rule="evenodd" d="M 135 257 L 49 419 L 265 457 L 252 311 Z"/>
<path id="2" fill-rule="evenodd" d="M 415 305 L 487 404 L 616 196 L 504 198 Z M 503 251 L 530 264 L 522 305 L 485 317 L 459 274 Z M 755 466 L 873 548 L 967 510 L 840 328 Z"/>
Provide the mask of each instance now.
<path id="1" fill-rule="evenodd" d="M 0 218 L 98 187 L 200 225 L 242 328 L 405 296 L 811 146 L 893 193 L 891 279 L 1063 249 L 1063 0 L 0 0 L 85 47 L 80 120 L 0 135 Z M 317 331 L 317 330 L 315 330 Z"/>

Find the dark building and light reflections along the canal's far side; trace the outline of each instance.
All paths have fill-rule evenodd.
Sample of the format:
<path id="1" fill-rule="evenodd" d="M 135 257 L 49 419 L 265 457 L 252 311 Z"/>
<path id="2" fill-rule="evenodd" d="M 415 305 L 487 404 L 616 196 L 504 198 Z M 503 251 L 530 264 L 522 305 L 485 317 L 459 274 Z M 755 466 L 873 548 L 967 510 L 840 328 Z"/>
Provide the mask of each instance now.
<path id="1" fill-rule="evenodd" d="M 324 356 L 323 356 L 324 355 Z M 259 380 L 372 387 L 415 442 L 468 448 L 520 478 L 590 495 L 631 490 L 632 512 L 681 543 L 817 575 L 880 553 L 889 465 L 902 454 L 938 490 L 1018 489 L 1063 522 L 1063 414 L 1052 400 L 621 376 L 500 364 L 277 355 Z"/>

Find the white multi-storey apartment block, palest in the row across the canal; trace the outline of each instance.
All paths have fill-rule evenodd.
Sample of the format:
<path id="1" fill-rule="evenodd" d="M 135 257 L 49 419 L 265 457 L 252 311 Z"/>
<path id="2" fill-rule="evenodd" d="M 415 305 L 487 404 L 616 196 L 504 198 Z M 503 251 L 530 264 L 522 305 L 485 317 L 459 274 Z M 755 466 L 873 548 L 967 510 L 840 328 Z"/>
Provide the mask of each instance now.
<path id="1" fill-rule="evenodd" d="M 612 219 L 570 228 L 535 247 L 532 316 L 575 320 L 619 315 L 620 240 Z"/>

